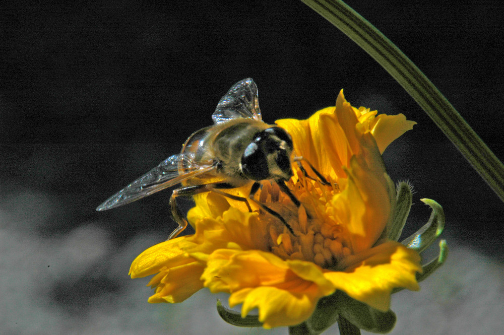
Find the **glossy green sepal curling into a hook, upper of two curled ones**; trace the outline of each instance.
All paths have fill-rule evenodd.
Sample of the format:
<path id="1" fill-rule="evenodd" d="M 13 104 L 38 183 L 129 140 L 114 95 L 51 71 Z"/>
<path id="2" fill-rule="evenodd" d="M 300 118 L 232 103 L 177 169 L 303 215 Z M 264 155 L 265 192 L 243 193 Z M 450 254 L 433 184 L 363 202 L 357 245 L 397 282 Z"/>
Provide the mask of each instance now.
<path id="1" fill-rule="evenodd" d="M 429 221 L 416 233 L 401 242 L 408 248 L 418 252 L 422 252 L 431 245 L 443 232 L 443 228 L 445 228 L 445 212 L 443 211 L 443 207 L 431 199 L 420 200 L 432 209 Z"/>

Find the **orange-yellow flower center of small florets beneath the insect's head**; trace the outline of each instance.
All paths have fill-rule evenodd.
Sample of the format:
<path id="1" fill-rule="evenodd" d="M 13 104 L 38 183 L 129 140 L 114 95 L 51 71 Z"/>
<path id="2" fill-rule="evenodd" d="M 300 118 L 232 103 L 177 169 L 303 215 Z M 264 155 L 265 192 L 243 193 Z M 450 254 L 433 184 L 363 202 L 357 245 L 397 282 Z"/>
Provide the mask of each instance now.
<path id="1" fill-rule="evenodd" d="M 297 173 L 297 181 L 287 183 L 300 200 L 297 208 L 275 183 L 264 183 L 259 200 L 279 213 L 294 230 L 290 233 L 280 220 L 261 214 L 269 226 L 269 248 L 283 259 L 312 261 L 323 268 L 332 268 L 351 253 L 343 226 L 333 215 L 331 200 L 340 193 L 337 184 L 324 185 L 319 180 Z"/>

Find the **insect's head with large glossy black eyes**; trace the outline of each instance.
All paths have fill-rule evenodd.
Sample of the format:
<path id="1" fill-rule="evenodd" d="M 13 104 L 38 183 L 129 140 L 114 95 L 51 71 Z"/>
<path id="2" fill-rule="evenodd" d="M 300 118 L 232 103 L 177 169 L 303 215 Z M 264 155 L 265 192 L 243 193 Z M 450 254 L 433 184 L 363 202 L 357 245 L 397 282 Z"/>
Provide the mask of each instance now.
<path id="1" fill-rule="evenodd" d="M 241 157 L 240 169 L 252 180 L 284 179 L 292 176 L 292 139 L 284 129 L 271 127 L 259 131 Z"/>

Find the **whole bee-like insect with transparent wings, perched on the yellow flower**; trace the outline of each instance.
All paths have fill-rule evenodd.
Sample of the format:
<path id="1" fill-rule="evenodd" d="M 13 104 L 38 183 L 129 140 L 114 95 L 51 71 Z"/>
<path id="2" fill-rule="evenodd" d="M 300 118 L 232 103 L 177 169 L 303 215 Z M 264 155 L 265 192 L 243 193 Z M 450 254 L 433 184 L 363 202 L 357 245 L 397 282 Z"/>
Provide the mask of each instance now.
<path id="1" fill-rule="evenodd" d="M 261 187 L 260 181 L 273 180 L 297 207 L 300 205 L 285 184 L 293 175 L 291 162 L 296 160 L 292 158 L 292 139 L 284 129 L 262 121 L 256 83 L 247 78 L 234 84 L 220 99 L 212 119 L 214 124 L 194 132 L 179 154 L 165 159 L 96 210 L 129 204 L 180 183 L 181 187 L 173 190 L 169 202 L 178 227 L 168 239 L 176 237 L 187 226 L 175 198 L 210 191 L 244 202 L 249 211 L 248 200 L 256 203 L 293 233 L 281 215 L 254 199 Z M 251 184 L 248 198 L 222 191 L 248 183 Z"/>

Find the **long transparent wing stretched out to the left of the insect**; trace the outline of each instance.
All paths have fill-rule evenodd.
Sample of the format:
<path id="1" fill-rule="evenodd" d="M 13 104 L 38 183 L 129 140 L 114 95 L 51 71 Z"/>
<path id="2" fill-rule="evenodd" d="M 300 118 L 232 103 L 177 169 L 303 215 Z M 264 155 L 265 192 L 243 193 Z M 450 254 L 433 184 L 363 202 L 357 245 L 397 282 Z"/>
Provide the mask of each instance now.
<path id="1" fill-rule="evenodd" d="M 200 164 L 194 162 L 193 158 L 194 155 L 187 153 L 168 157 L 158 166 L 106 199 L 96 210 L 106 211 L 132 203 L 140 198 L 176 185 L 184 180 L 194 178 L 215 168 L 212 162 Z M 179 163 L 182 162 L 184 162 L 184 166 L 191 166 L 191 168 L 179 170 Z"/>

